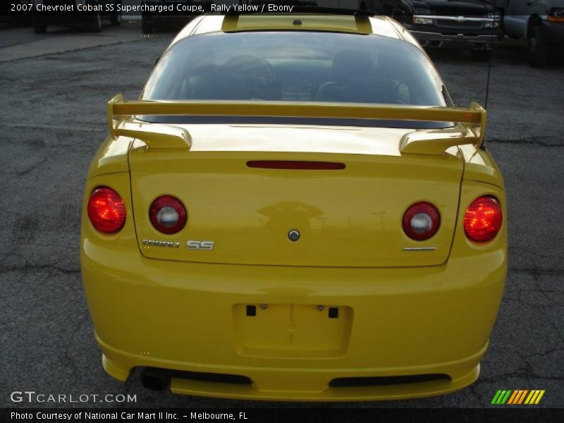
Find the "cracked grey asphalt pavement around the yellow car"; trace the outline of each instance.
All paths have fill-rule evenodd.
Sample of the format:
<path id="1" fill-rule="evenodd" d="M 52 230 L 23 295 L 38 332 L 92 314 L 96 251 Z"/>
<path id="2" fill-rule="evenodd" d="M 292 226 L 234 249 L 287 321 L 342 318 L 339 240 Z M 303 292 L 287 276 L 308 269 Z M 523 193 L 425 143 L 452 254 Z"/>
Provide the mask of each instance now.
<path id="1" fill-rule="evenodd" d="M 139 407 L 242 405 L 146 391 L 138 373 L 126 384 L 107 376 L 80 281 L 82 185 L 106 134 L 106 102 L 118 92 L 137 97 L 171 37 L 89 44 L 0 66 L 0 407 L 64 405 L 11 402 L 12 391 L 25 390 L 130 393 L 137 403 L 128 406 Z M 441 51 L 431 58 L 455 103 L 484 103 L 487 63 Z M 545 389 L 539 406 L 564 406 L 564 102 L 556 89 L 564 86 L 563 70 L 562 61 L 529 68 L 518 43 L 504 45 L 491 66 L 486 145 L 505 177 L 510 262 L 479 380 L 462 391 L 420 400 L 276 405 L 489 407 L 496 390 L 508 388 Z"/>

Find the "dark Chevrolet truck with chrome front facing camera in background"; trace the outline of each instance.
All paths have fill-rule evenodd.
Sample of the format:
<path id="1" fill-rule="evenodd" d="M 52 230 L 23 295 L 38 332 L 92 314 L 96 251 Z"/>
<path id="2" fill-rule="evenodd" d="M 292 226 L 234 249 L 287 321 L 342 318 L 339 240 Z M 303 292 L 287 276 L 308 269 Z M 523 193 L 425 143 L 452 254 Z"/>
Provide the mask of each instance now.
<path id="1" fill-rule="evenodd" d="M 426 48 L 465 49 L 486 60 L 501 39 L 501 10 L 491 0 L 369 0 L 382 4 Z"/>

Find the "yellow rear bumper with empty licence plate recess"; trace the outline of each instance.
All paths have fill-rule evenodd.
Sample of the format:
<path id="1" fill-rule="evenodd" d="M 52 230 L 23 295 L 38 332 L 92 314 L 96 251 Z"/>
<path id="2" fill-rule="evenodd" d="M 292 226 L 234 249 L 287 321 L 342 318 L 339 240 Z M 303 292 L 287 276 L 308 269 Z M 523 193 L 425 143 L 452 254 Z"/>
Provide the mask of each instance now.
<path id="1" fill-rule="evenodd" d="M 503 251 L 405 269 L 195 264 L 133 250 L 116 255 L 82 241 L 82 278 L 106 372 L 121 381 L 139 366 L 250 378 L 250 386 L 179 378 L 171 384 L 175 393 L 227 398 L 383 400 L 463 388 L 479 374 L 505 266 Z M 305 328 L 319 345 L 281 347 L 269 326 L 242 329 L 245 319 L 260 318 L 262 304 L 270 307 L 264 316 L 282 305 L 336 306 L 350 321 L 329 338 Z M 256 305 L 257 317 L 238 313 L 241 305 Z M 270 321 L 283 325 L 281 332 L 302 329 Z M 337 378 L 422 374 L 448 379 L 330 386 Z"/>

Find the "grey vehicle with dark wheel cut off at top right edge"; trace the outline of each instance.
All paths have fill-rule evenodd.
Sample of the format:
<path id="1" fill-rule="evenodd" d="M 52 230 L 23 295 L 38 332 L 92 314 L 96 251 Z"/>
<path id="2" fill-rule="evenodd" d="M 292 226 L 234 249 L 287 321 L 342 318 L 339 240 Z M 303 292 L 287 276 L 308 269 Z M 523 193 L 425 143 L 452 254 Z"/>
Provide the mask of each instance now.
<path id="1" fill-rule="evenodd" d="M 503 29 L 529 41 L 529 64 L 540 68 L 550 47 L 564 46 L 564 0 L 505 0 Z"/>

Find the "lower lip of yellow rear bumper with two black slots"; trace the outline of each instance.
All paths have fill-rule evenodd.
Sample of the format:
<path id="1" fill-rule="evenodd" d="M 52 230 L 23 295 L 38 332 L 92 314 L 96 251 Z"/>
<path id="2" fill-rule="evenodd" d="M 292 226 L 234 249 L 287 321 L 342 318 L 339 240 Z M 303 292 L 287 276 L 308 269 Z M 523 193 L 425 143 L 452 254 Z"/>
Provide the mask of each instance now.
<path id="1" fill-rule="evenodd" d="M 210 396 L 214 398 L 232 398 L 240 400 L 299 400 L 299 401 L 366 401 L 366 400 L 398 400 L 407 398 L 423 398 L 443 395 L 469 386 L 479 376 L 479 361 L 484 355 L 487 345 L 471 357 L 458 362 L 445 362 L 429 367 L 401 367 L 381 369 L 379 367 L 362 369 L 318 368 L 317 366 L 287 367 L 238 367 L 202 365 L 201 363 L 169 362 L 145 358 L 140 363 L 139 357 L 116 350 L 96 337 L 102 348 L 102 365 L 106 372 L 114 378 L 125 381 L 130 369 L 135 366 L 147 366 L 172 370 L 171 392 L 180 395 Z M 182 377 L 178 369 L 189 369 L 187 372 L 202 372 L 212 376 L 237 375 L 245 376 L 250 384 L 222 383 L 221 381 L 202 381 Z M 435 373 L 441 372 L 441 373 Z M 407 376 L 401 377 L 382 375 Z M 352 375 L 352 376 L 351 376 Z M 398 382 L 376 382 L 369 386 L 330 386 L 341 378 L 388 378 Z M 417 380 L 422 376 L 422 381 Z M 425 376 L 430 376 L 426 378 Z M 434 377 L 444 376 L 444 377 Z M 426 380 L 427 379 L 427 380 Z"/>

